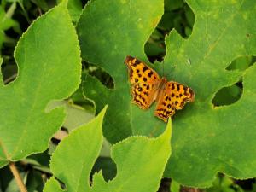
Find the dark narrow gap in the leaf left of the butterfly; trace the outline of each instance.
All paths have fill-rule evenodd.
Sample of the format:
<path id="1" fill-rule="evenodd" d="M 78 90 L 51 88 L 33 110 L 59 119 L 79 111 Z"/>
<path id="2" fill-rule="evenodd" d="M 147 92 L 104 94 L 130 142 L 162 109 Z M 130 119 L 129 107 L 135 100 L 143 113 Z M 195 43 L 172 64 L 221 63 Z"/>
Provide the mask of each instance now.
<path id="1" fill-rule="evenodd" d="M 84 72 L 87 72 L 91 76 L 96 77 L 96 79 L 99 79 L 102 84 L 108 87 L 108 89 L 114 89 L 113 78 L 101 67 L 97 67 L 94 64 L 84 62 L 83 68 Z"/>

